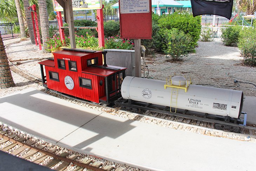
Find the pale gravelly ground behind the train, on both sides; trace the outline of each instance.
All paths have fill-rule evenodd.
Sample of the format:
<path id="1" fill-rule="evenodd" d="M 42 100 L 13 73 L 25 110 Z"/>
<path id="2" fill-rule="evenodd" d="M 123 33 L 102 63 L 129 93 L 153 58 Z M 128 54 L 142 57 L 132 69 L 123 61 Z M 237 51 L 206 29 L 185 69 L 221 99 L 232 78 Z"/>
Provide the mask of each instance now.
<path id="1" fill-rule="evenodd" d="M 4 40 L 8 59 L 20 69 L 41 78 L 38 62 L 51 57 L 43 53 L 30 40 Z M 169 76 L 181 75 L 191 78 L 193 84 L 220 88 L 242 90 L 245 96 L 256 96 L 256 67 L 243 66 L 242 57 L 237 47 L 224 46 L 219 38 L 213 42 L 198 42 L 196 53 L 189 54 L 182 62 L 167 62 L 163 54 L 148 55 L 146 64 L 150 79 L 166 80 Z M 143 63 L 142 63 L 143 64 Z M 143 66 L 142 66 L 143 67 Z M 148 72 L 146 69 L 146 76 Z M 15 87 L 0 90 L 0 97 L 14 91 L 34 87 L 42 89 L 34 83 L 12 73 Z M 234 80 L 247 83 L 234 83 Z"/>

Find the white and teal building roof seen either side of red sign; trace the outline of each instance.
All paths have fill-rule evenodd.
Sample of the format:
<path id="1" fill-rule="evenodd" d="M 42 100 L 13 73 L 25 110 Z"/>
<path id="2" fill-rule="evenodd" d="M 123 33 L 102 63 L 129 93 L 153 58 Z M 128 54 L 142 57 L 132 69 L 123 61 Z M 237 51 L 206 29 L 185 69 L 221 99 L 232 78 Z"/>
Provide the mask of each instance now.
<path id="1" fill-rule="evenodd" d="M 159 2 L 159 7 L 183 7 L 182 3 L 174 0 L 151 0 L 152 7 L 157 7 L 157 3 Z M 189 1 L 190 2 L 190 1 Z M 191 7 L 191 3 L 190 3 Z M 112 5 L 112 8 L 119 8 L 118 2 Z"/>

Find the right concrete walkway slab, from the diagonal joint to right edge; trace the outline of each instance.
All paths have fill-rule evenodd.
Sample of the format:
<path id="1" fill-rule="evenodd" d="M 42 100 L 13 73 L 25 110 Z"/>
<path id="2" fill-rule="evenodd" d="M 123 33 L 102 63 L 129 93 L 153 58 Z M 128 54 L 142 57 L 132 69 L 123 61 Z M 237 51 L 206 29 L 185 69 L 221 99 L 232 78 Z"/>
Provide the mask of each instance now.
<path id="1" fill-rule="evenodd" d="M 57 144 L 147 170 L 255 169 L 256 143 L 170 129 L 104 113 Z"/>

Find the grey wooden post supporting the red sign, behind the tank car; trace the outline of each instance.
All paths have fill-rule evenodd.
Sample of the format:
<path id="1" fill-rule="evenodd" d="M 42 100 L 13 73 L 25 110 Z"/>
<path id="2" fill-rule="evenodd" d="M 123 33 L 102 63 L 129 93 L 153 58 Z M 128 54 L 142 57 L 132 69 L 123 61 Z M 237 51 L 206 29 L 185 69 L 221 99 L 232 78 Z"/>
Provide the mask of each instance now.
<path id="1" fill-rule="evenodd" d="M 135 76 L 141 77 L 141 43 L 140 39 L 134 39 L 135 50 Z"/>

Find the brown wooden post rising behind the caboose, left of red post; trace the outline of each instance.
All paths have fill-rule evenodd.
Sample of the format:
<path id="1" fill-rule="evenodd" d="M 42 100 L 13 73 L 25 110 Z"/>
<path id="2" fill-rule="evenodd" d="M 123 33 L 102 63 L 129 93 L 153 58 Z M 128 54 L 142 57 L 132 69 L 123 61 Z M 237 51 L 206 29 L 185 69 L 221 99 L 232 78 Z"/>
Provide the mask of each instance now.
<path id="1" fill-rule="evenodd" d="M 67 2 L 65 2 L 65 6 L 66 6 L 70 46 L 72 49 L 74 49 L 76 48 L 76 44 L 75 44 L 75 29 L 74 29 L 72 0 L 67 0 Z"/>

